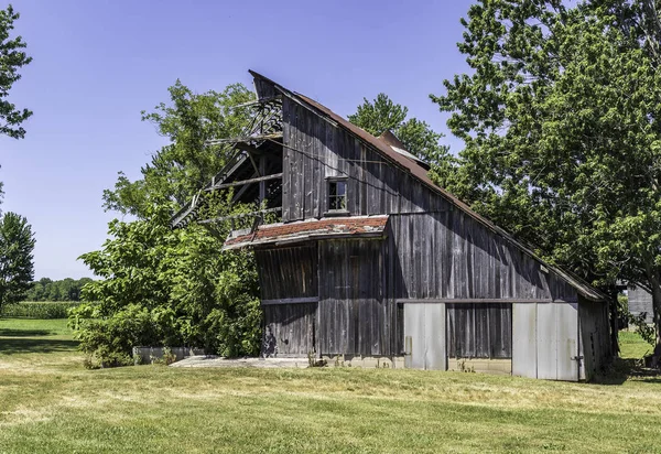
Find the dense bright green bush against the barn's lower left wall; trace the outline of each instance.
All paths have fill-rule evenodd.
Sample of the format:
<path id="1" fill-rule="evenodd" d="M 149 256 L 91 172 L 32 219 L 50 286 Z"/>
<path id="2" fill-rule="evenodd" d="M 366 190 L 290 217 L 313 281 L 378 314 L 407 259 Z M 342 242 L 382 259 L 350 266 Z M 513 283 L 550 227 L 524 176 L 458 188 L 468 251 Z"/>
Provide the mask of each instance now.
<path id="1" fill-rule="evenodd" d="M 166 209 L 109 225 L 104 248 L 82 256 L 101 279 L 72 316 L 84 352 L 120 365 L 131 347 L 195 346 L 224 356 L 259 353 L 261 310 L 253 257 L 221 252 L 226 228 L 172 230 Z"/>

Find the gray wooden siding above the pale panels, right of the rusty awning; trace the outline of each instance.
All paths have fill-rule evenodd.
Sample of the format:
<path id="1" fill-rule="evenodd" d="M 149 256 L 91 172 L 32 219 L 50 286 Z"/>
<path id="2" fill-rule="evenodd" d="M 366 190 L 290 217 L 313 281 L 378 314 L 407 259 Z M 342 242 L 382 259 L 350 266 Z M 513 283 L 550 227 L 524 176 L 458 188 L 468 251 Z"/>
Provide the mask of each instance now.
<path id="1" fill-rule="evenodd" d="M 576 301 L 573 287 L 459 210 L 392 215 L 389 294 Z"/>

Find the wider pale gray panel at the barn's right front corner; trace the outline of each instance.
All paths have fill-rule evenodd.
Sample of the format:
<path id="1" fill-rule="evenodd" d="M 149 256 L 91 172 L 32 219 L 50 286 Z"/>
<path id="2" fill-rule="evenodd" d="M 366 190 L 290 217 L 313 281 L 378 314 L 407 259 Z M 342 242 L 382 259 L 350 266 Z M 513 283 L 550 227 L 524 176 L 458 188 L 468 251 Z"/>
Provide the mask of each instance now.
<path id="1" fill-rule="evenodd" d="M 537 304 L 538 378 L 578 380 L 578 304 Z"/>

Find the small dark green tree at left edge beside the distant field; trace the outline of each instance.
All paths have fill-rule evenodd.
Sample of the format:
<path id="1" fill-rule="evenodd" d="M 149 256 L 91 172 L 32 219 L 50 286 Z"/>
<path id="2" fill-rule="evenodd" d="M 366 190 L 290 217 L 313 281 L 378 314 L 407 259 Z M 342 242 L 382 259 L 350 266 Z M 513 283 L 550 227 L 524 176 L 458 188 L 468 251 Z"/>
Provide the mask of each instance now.
<path id="1" fill-rule="evenodd" d="M 0 218 L 0 309 L 17 303 L 30 289 L 33 271 L 34 236 L 28 220 L 14 213 Z"/>

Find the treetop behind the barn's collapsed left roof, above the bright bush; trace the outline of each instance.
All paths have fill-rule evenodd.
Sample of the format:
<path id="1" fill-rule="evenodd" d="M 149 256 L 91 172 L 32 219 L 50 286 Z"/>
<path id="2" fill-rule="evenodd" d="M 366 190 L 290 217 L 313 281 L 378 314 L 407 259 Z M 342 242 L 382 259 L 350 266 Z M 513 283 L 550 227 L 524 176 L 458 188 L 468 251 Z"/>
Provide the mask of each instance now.
<path id="1" fill-rule="evenodd" d="M 236 107 L 254 99 L 242 84 L 198 95 L 176 80 L 169 91 L 171 105 L 142 111 L 142 120 L 152 122 L 170 143 L 141 169 L 140 180 L 131 182 L 119 173 L 115 188 L 104 192 L 107 210 L 145 218 L 155 205 L 178 209 L 225 165 L 226 150 L 205 142 L 238 137 L 250 122 L 248 109 Z"/>

